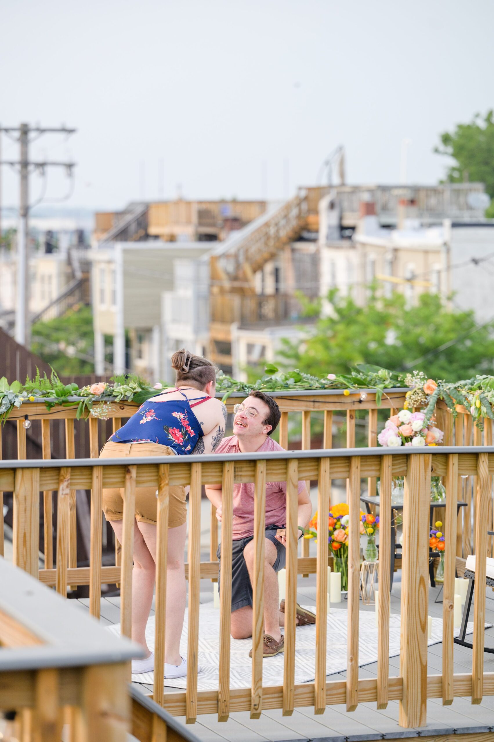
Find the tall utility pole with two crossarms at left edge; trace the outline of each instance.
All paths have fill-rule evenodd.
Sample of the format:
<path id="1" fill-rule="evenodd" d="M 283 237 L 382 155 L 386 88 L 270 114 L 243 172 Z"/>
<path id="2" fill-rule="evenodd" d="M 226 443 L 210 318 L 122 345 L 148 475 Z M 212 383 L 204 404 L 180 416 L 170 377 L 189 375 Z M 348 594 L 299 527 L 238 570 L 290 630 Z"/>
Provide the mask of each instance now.
<path id="1" fill-rule="evenodd" d="M 45 168 L 64 167 L 68 174 L 72 174 L 75 162 L 30 162 L 29 144 L 30 134 L 37 134 L 38 139 L 42 134 L 74 134 L 75 129 L 65 126 L 60 128 L 30 127 L 29 124 L 21 124 L 19 127 L 0 127 L 1 132 L 7 134 L 11 139 L 19 142 L 19 160 L 0 160 L 0 165 L 10 165 L 16 168 L 20 175 L 20 199 L 19 199 L 19 229 L 17 230 L 17 270 L 16 270 L 16 329 L 15 339 L 27 349 L 30 348 L 30 315 L 29 315 L 29 176 L 39 170 L 45 174 Z M 18 134 L 18 136 L 16 136 Z"/>

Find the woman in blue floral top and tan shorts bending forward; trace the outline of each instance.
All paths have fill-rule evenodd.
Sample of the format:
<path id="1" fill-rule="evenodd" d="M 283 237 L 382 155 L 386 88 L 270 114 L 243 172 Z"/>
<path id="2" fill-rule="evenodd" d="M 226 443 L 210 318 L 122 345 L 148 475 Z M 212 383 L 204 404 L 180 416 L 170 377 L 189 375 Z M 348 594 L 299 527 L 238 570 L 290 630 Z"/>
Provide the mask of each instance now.
<path id="1" fill-rule="evenodd" d="M 187 456 L 213 453 L 224 436 L 227 408 L 215 399 L 216 367 L 206 358 L 179 350 L 172 356 L 175 387 L 141 404 L 103 447 L 100 459 L 129 456 Z M 135 490 L 134 569 L 132 571 L 132 639 L 147 652 L 132 660 L 132 672 L 152 672 L 155 655 L 146 643 L 146 623 L 155 586 L 156 487 Z M 180 640 L 186 602 L 183 552 L 186 539 L 186 490 L 169 487 L 168 557 L 166 562 L 165 677 L 186 675 Z M 122 542 L 123 490 L 103 490 L 103 511 Z"/>

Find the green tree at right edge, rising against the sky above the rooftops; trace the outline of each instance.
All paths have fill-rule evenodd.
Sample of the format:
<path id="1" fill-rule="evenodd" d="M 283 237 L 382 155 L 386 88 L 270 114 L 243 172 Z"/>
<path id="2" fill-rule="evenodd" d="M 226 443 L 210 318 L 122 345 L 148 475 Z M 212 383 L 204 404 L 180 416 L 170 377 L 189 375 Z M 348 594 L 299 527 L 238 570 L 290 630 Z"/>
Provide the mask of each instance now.
<path id="1" fill-rule="evenodd" d="M 475 114 L 469 124 L 458 124 L 455 131 L 441 134 L 442 147 L 435 152 L 446 154 L 456 162 L 448 168 L 449 183 L 465 180 L 485 183 L 486 191 L 494 199 L 494 113 L 487 111 L 482 118 Z M 493 211 L 493 204 L 488 211 Z M 493 214 L 487 214 L 494 216 Z"/>

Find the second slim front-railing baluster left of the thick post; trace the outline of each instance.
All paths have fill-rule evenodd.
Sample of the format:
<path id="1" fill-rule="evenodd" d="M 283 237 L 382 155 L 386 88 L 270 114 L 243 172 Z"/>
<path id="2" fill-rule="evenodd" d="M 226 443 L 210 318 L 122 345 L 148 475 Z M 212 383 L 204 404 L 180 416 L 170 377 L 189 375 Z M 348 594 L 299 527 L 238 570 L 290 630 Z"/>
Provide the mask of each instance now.
<path id="1" fill-rule="evenodd" d="M 346 710 L 354 711 L 359 700 L 360 456 L 350 459 L 348 509 Z"/>

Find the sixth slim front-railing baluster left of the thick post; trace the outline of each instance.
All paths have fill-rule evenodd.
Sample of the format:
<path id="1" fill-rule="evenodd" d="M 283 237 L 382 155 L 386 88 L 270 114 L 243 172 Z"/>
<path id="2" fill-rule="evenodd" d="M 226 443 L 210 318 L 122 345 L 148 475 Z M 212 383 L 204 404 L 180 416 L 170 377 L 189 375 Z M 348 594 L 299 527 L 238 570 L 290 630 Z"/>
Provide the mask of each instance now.
<path id="1" fill-rule="evenodd" d="M 234 462 L 224 462 L 223 482 L 221 485 L 221 585 L 218 721 L 227 721 L 230 715 L 230 621 L 232 616 L 234 473 Z"/>

